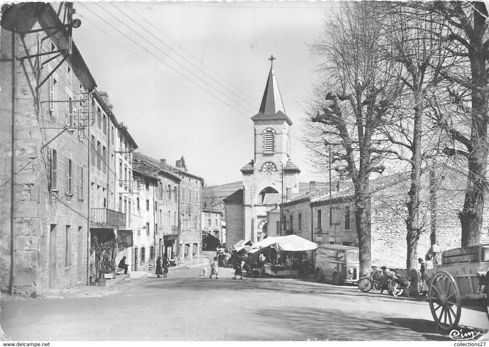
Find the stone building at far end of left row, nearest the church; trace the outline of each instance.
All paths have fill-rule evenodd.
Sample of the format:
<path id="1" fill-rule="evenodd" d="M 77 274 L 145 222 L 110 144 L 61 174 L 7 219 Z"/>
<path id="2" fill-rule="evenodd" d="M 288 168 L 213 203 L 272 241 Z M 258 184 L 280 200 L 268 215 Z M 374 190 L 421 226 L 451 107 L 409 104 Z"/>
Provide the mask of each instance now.
<path id="1" fill-rule="evenodd" d="M 146 203 L 150 212 L 141 215 L 141 223 L 149 223 L 156 254 L 166 255 L 175 263 L 200 263 L 203 179 L 185 171 L 181 161 L 171 166 L 165 159 L 157 162 L 136 152 L 133 158 L 134 179 L 148 181 L 148 189 L 142 191 L 140 188 L 138 197 L 142 199 L 141 196 L 147 194 L 145 199 L 150 201 L 150 205 Z M 153 181 L 152 189 L 150 179 Z"/>

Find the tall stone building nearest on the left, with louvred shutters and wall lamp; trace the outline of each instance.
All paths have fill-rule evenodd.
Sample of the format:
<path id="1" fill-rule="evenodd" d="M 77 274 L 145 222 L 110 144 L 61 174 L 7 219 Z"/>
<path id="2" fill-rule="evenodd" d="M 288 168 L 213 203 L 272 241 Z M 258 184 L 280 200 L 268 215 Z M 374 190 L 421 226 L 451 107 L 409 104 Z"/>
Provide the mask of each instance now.
<path id="1" fill-rule="evenodd" d="M 60 6 L 76 27 L 71 4 Z M 86 100 L 96 84 L 71 30 L 47 3 L 13 4 L 2 12 L 2 291 L 36 296 L 87 280 Z"/>

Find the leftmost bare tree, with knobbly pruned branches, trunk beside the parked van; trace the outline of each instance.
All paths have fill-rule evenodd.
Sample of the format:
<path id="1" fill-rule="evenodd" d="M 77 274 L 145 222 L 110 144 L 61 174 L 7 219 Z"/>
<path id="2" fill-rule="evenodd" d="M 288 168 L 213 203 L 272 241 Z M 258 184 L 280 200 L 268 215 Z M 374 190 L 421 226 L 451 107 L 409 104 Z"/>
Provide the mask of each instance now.
<path id="1" fill-rule="evenodd" d="M 311 153 L 329 159 L 331 149 L 333 166 L 353 181 L 361 274 L 371 270 L 369 177 L 383 171 L 378 126 L 399 93 L 386 80 L 390 68 L 379 57 L 380 27 L 371 6 L 343 3 L 310 46 L 325 62 L 305 126 Z"/>

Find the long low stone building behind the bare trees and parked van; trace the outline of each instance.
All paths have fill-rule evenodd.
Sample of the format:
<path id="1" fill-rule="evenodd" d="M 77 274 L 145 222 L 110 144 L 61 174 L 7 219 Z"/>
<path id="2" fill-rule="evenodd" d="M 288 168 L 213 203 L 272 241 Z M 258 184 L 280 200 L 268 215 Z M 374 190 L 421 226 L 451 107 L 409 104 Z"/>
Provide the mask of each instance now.
<path id="1" fill-rule="evenodd" d="M 430 209 L 429 177 L 422 175 L 422 231 L 418 255 L 423 256 L 431 245 L 430 234 L 436 232 L 442 250 L 460 247 L 461 225 L 458 212 L 464 204 L 466 182 L 454 170 L 440 169 L 435 208 Z M 407 191 L 409 175 L 396 174 L 372 180 L 371 249 L 372 264 L 391 268 L 406 266 Z M 316 243 L 358 246 L 353 185 L 337 182 L 329 189 L 311 191 L 283 204 L 288 233 Z M 433 212 L 432 212 L 433 211 Z M 330 219 L 331 218 L 331 219 Z M 484 215 L 481 243 L 489 242 L 489 209 Z"/>

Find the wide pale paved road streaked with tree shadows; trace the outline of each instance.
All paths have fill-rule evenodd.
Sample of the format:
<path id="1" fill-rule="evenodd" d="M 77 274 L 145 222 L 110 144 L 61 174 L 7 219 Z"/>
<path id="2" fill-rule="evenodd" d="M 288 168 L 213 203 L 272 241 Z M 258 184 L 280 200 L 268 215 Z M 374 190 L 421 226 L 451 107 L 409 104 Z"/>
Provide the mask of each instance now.
<path id="1" fill-rule="evenodd" d="M 2 300 L 11 340 L 448 340 L 426 302 L 279 278 L 219 279 L 200 268 L 141 279 L 104 297 Z M 484 312 L 460 324 L 489 329 Z"/>

